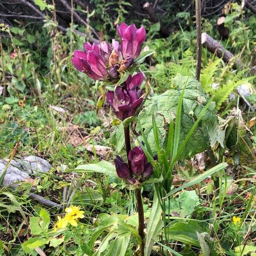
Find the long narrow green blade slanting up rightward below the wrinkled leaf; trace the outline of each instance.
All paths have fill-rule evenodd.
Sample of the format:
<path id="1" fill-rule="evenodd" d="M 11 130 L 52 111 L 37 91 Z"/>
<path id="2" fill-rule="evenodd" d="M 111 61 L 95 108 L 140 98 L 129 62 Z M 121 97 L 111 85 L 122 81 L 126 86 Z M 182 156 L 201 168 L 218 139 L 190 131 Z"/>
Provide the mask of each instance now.
<path id="1" fill-rule="evenodd" d="M 169 192 L 165 198 L 169 197 L 170 195 L 175 194 L 176 192 L 180 191 L 181 189 L 186 189 L 189 186 L 195 185 L 202 180 L 205 180 L 207 177 L 211 176 L 215 172 L 220 171 L 221 169 L 224 169 L 227 167 L 227 163 L 219 163 L 218 165 L 212 167 L 211 169 L 207 170 L 206 172 L 202 173 L 201 175 L 198 175 L 197 177 L 194 177 L 192 180 L 190 180 L 188 183 L 178 187 L 177 189 L 173 189 L 171 192 Z"/>

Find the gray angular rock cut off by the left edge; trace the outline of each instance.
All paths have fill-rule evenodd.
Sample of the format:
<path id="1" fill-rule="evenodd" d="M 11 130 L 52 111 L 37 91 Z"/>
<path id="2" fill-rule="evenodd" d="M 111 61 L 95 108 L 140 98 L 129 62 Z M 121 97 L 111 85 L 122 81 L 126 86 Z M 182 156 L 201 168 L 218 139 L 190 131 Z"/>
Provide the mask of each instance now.
<path id="1" fill-rule="evenodd" d="M 9 159 L 0 160 L 0 176 L 3 174 L 6 165 L 8 164 Z M 29 178 L 29 175 L 21 169 L 20 163 L 15 160 L 12 160 L 9 164 L 6 174 L 3 178 L 3 186 L 11 186 L 13 183 L 21 180 L 26 180 Z"/>

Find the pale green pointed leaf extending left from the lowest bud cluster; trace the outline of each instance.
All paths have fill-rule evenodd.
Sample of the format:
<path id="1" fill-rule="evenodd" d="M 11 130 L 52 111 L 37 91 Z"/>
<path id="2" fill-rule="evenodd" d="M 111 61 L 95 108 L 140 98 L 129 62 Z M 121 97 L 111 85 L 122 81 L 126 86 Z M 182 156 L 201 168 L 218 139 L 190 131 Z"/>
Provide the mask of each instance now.
<path id="1" fill-rule="evenodd" d="M 102 160 L 99 163 L 88 163 L 79 165 L 76 167 L 76 169 L 69 169 L 66 172 L 99 172 L 119 179 L 116 174 L 115 166 L 105 160 Z"/>

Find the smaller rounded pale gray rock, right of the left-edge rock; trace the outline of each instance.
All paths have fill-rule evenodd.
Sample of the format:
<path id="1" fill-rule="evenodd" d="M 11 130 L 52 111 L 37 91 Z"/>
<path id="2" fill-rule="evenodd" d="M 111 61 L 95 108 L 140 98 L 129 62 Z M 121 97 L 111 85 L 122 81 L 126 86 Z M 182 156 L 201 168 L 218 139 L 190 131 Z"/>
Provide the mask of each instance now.
<path id="1" fill-rule="evenodd" d="M 22 168 L 29 173 L 49 172 L 51 165 L 41 157 L 29 156 L 20 161 Z"/>

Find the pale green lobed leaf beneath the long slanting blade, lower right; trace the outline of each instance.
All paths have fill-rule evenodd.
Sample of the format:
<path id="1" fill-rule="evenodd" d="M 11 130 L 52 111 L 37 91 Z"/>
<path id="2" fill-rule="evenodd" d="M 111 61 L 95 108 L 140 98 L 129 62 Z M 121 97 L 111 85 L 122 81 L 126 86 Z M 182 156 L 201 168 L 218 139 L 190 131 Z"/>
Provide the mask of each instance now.
<path id="1" fill-rule="evenodd" d="M 166 212 L 175 217 L 185 218 L 195 211 L 195 207 L 200 205 L 199 197 L 192 191 L 183 191 L 179 197 L 170 198 L 170 211 L 168 210 L 168 201 L 166 201 Z"/>

